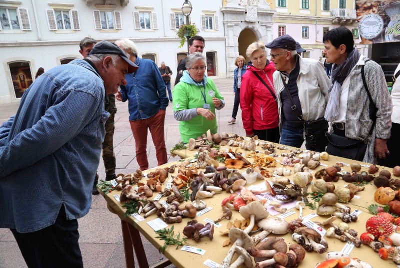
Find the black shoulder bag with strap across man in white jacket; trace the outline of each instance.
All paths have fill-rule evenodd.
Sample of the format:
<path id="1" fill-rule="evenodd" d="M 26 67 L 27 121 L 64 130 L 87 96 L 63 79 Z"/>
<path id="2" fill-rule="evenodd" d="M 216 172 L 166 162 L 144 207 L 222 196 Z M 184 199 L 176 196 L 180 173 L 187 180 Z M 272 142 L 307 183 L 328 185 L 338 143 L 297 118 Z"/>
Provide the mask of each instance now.
<path id="1" fill-rule="evenodd" d="M 303 116 L 298 111 L 294 101 L 290 95 L 290 91 L 287 88 L 282 75 L 280 74 L 283 87 L 286 90 L 287 97 L 289 98 L 291 109 L 297 113 L 297 118 L 304 125 L 304 136 L 305 136 L 305 148 L 314 151 L 316 146 L 326 146 L 328 141 L 326 139 L 326 131 L 328 130 L 328 122 L 325 118 L 321 117 L 316 120 L 305 121 Z"/>

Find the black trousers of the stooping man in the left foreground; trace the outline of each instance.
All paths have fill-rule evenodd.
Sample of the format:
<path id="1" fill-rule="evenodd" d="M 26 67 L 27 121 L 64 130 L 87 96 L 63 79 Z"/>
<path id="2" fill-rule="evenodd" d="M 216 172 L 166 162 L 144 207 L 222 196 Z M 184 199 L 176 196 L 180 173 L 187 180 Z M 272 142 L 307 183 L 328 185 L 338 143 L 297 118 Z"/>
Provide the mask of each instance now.
<path id="1" fill-rule="evenodd" d="M 64 206 L 53 225 L 31 233 L 10 229 L 29 268 L 83 268 L 77 220 L 66 220 Z"/>

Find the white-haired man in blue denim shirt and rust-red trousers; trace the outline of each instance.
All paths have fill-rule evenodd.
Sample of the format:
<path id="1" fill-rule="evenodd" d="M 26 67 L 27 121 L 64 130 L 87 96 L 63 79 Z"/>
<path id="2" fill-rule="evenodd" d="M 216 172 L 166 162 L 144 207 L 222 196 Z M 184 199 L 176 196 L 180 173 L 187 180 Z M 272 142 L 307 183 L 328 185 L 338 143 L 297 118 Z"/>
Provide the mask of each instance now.
<path id="1" fill-rule="evenodd" d="M 115 95 L 119 101 L 129 101 L 129 123 L 136 147 L 136 160 L 140 170 L 148 169 L 147 160 L 147 129 L 155 146 L 158 166 L 167 162 L 164 120 L 165 109 L 168 106 L 165 83 L 154 61 L 139 58 L 136 46 L 129 39 L 115 42 L 125 51 L 130 51 L 139 66 L 137 71 L 126 74 L 126 86 L 121 85 Z"/>

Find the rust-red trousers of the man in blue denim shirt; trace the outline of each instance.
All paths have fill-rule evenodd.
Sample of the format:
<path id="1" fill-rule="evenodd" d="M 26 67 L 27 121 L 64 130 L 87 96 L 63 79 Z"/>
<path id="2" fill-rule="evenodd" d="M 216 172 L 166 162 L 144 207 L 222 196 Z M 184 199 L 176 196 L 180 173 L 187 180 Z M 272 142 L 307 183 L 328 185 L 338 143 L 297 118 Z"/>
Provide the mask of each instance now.
<path id="1" fill-rule="evenodd" d="M 147 129 L 150 130 L 151 139 L 155 146 L 155 156 L 157 157 L 158 166 L 165 164 L 168 161 L 166 156 L 166 147 L 164 139 L 164 120 L 165 111 L 159 111 L 147 119 L 139 119 L 130 121 L 130 129 L 133 133 L 133 138 L 136 147 L 136 160 L 140 170 L 148 169 L 147 160 Z"/>

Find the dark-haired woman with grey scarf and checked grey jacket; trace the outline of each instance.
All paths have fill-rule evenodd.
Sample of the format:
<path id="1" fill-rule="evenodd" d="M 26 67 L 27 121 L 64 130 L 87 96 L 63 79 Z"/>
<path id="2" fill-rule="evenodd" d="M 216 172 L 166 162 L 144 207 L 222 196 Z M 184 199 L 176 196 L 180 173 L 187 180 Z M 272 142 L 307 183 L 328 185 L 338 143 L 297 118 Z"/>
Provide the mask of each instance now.
<path id="1" fill-rule="evenodd" d="M 392 105 L 382 68 L 354 48 L 352 33 L 345 27 L 328 31 L 323 36 L 323 43 L 326 62 L 333 63 L 329 100 L 325 109 L 325 119 L 332 123 L 333 132 L 350 139 L 366 139 L 363 159 L 354 160 L 374 163 L 376 157 L 385 158 L 395 153 L 389 152 L 386 146 L 390 137 Z M 371 135 L 372 120 L 369 117 L 369 98 L 362 82 L 362 65 L 376 107 L 376 122 Z"/>

